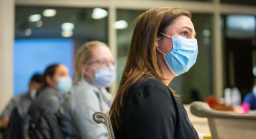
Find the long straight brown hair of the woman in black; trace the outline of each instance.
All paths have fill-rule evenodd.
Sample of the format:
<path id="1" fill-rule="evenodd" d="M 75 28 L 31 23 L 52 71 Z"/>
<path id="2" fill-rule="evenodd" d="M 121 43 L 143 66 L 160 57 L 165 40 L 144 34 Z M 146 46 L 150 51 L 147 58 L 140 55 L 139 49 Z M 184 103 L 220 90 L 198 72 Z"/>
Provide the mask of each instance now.
<path id="1" fill-rule="evenodd" d="M 145 76 L 165 80 L 157 57 L 156 41 L 163 37 L 159 32 L 166 33 L 166 28 L 182 15 L 191 18 L 191 13 L 183 8 L 151 8 L 135 20 L 127 63 L 110 110 L 114 129 L 118 130 L 122 124 L 120 110 L 131 85 Z"/>

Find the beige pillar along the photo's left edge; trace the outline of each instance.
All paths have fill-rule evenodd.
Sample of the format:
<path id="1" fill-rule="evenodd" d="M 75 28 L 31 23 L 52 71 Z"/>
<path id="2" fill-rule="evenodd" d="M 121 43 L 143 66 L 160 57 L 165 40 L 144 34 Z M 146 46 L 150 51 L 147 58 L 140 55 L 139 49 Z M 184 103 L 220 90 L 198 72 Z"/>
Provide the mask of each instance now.
<path id="1" fill-rule="evenodd" d="M 0 0 L 0 113 L 13 96 L 14 0 Z"/>

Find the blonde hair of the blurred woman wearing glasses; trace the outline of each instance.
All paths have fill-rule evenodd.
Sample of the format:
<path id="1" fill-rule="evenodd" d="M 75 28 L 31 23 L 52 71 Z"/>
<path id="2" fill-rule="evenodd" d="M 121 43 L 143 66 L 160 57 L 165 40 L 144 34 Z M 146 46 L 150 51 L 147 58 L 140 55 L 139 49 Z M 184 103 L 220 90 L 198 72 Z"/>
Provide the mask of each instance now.
<path id="1" fill-rule="evenodd" d="M 74 60 L 74 71 L 75 71 L 75 76 L 74 76 L 74 84 L 77 84 L 78 81 L 81 80 L 82 78 L 82 71 L 81 71 L 81 66 L 86 65 L 90 58 L 92 58 L 92 49 L 95 47 L 99 46 L 106 46 L 107 45 L 104 42 L 99 42 L 97 40 L 86 42 L 83 44 L 77 51 L 77 54 L 75 56 Z"/>

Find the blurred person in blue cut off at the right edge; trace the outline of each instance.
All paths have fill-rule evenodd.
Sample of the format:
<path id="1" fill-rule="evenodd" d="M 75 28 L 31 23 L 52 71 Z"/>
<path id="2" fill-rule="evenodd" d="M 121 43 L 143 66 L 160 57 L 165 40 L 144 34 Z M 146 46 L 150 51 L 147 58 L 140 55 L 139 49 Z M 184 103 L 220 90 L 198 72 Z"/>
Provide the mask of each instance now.
<path id="1" fill-rule="evenodd" d="M 243 108 L 243 113 L 248 113 L 250 110 L 256 110 L 256 78 L 253 81 L 252 92 L 248 92 L 243 98 L 241 107 Z"/>

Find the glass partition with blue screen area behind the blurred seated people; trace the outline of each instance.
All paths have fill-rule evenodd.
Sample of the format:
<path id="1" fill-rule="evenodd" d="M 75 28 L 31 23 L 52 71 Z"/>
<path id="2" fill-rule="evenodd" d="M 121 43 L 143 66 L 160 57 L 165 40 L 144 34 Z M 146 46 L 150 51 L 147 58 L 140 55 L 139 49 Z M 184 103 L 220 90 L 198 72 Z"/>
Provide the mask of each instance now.
<path id="1" fill-rule="evenodd" d="M 106 8 L 16 6 L 15 95 L 27 90 L 33 72 L 42 73 L 51 63 L 64 63 L 72 76 L 81 44 L 108 43 L 108 15 Z"/>

